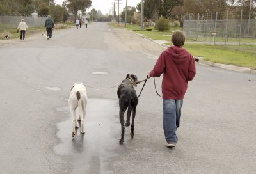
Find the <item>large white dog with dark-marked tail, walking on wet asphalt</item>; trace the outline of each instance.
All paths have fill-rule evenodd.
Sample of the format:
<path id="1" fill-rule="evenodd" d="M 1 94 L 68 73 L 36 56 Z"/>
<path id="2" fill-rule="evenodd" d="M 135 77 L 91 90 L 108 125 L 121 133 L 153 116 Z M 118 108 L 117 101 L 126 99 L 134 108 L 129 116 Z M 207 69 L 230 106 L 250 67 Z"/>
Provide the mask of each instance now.
<path id="1" fill-rule="evenodd" d="M 81 120 L 81 134 L 84 134 L 84 117 L 87 105 L 87 92 L 83 83 L 75 83 L 70 91 L 68 106 L 73 116 L 72 137 L 76 134 L 77 120 Z M 79 109 L 79 118 L 76 120 L 76 108 Z"/>

